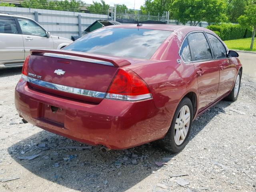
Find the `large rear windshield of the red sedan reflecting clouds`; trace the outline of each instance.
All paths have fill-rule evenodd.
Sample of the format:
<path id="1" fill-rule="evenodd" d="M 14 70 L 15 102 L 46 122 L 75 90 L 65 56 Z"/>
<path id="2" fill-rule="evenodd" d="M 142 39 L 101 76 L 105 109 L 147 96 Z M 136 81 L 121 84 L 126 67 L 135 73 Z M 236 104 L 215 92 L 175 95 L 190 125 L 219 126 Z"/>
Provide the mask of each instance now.
<path id="1" fill-rule="evenodd" d="M 149 59 L 172 31 L 137 28 L 101 28 L 63 50 Z"/>

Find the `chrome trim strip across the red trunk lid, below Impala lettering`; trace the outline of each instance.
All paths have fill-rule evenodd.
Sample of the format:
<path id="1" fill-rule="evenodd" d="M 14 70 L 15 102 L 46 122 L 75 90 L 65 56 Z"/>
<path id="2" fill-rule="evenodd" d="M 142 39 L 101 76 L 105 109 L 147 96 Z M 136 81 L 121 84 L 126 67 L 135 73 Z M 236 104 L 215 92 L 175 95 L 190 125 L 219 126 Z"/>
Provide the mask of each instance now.
<path id="1" fill-rule="evenodd" d="M 88 97 L 95 97 L 95 98 L 102 98 L 102 99 L 106 95 L 106 93 L 104 93 L 104 92 L 98 92 L 98 91 L 92 91 L 92 90 L 86 90 L 86 89 L 80 89 L 80 88 L 74 88 L 74 87 L 54 84 L 54 83 L 42 81 L 39 79 L 34 79 L 34 78 L 28 77 L 24 74 L 21 75 L 21 78 L 27 82 L 36 84 L 38 86 L 42 86 L 45 88 L 54 89 L 54 90 L 58 90 L 58 91 L 68 92 L 68 93 L 72 93 L 72 94 L 88 96 Z"/>

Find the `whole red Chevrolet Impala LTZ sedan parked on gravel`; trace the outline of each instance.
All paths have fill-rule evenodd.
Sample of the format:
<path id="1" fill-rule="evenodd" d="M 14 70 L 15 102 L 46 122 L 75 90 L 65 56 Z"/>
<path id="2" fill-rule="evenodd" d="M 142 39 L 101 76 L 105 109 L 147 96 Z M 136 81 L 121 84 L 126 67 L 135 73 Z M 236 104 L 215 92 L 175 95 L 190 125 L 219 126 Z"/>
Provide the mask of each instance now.
<path id="1" fill-rule="evenodd" d="M 24 120 L 105 151 L 156 140 L 178 152 L 192 120 L 237 99 L 237 57 L 205 28 L 108 26 L 62 50 L 31 50 L 15 105 Z"/>

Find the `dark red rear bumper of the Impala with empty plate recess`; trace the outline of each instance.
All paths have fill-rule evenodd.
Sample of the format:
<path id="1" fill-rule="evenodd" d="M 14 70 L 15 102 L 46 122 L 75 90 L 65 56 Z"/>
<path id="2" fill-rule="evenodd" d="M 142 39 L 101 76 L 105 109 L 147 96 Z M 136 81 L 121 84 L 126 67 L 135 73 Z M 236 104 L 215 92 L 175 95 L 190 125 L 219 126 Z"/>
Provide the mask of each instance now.
<path id="1" fill-rule="evenodd" d="M 156 108 L 153 99 L 140 102 L 103 99 L 99 104 L 72 101 L 33 90 L 22 79 L 16 86 L 15 106 L 19 115 L 35 126 L 111 149 L 130 148 L 164 137 L 174 112 L 172 106 Z M 50 106 L 62 111 L 52 113 L 47 109 Z M 51 120 L 47 118 L 49 111 Z"/>

